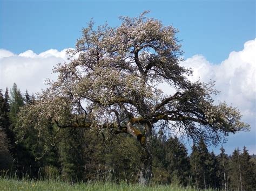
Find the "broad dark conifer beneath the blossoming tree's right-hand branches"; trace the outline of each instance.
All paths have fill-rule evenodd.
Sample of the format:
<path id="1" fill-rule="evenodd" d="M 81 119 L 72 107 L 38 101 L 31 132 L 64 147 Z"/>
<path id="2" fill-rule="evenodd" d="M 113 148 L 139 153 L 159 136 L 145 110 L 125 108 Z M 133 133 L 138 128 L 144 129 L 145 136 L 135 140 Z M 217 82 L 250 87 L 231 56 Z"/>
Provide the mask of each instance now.
<path id="1" fill-rule="evenodd" d="M 171 137 L 167 141 L 166 148 L 166 162 L 171 181 L 184 186 L 188 185 L 190 161 L 185 146 L 179 142 L 177 137 Z"/>

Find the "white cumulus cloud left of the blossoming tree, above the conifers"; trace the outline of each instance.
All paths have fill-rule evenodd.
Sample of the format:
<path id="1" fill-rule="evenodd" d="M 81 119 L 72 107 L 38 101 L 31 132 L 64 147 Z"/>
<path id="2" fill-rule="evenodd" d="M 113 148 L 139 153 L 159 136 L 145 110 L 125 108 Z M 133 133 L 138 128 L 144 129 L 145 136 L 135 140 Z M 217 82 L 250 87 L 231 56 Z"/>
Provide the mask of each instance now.
<path id="1" fill-rule="evenodd" d="M 58 51 L 49 49 L 48 51 L 36 54 L 31 50 L 18 55 L 0 49 L 0 88 L 9 89 L 14 83 L 24 93 L 28 89 L 29 93 L 36 93 L 46 88 L 45 79 L 56 79 L 56 74 L 52 73 L 53 66 L 63 63 L 68 59 L 67 49 Z"/>

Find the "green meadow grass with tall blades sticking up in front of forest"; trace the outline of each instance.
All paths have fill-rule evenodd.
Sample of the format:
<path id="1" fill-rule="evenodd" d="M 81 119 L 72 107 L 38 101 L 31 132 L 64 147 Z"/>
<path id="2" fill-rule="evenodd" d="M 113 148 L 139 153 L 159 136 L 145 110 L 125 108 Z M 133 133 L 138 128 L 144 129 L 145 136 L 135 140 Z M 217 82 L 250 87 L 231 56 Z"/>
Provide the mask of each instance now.
<path id="1" fill-rule="evenodd" d="M 51 168 L 48 169 L 49 172 Z M 50 174 L 50 175 L 49 175 Z M 65 181 L 61 176 L 55 173 L 48 173 L 47 176 L 38 172 L 38 178 L 31 178 L 30 174 L 23 173 L 22 178 L 18 178 L 16 172 L 0 171 L 0 191 L 1 190 L 197 190 L 194 187 L 182 187 L 178 183 L 171 185 L 161 185 L 160 183 L 151 183 L 149 186 L 138 185 L 126 179 L 115 183 L 111 173 L 104 173 L 96 177 L 95 181 L 71 183 Z M 214 189 L 207 189 L 214 190 Z"/>

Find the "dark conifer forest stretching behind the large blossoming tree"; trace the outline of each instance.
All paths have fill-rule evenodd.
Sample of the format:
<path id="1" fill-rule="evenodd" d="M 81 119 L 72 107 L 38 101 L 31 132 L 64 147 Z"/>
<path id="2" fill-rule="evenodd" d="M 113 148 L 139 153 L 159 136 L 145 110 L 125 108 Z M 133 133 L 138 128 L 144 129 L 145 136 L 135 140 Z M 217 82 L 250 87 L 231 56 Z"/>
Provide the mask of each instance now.
<path id="1" fill-rule="evenodd" d="M 137 182 L 140 145 L 128 135 L 105 136 L 106 132 L 66 128 L 62 139 L 53 141 L 58 128 L 49 123 L 48 132 L 33 126 L 20 130 L 21 109 L 36 102 L 28 91 L 23 95 L 14 84 L 3 95 L 0 90 L 0 172 L 4 176 L 30 179 L 62 179 L 70 182 L 109 180 Z M 108 132 L 109 133 L 109 132 Z M 47 145 L 47 146 L 46 146 Z M 177 183 L 196 188 L 253 190 L 256 188 L 255 158 L 238 148 L 231 156 L 221 148 L 209 152 L 203 139 L 187 149 L 177 137 L 159 130 L 153 137 L 152 182 Z"/>

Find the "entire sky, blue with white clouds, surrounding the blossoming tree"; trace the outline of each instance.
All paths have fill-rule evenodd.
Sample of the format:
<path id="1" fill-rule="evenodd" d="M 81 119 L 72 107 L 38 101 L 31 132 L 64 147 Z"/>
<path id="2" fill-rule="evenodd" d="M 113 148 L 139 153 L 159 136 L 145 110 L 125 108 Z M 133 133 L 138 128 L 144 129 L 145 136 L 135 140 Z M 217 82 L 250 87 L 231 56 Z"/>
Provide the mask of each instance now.
<path id="1" fill-rule="evenodd" d="M 119 26 L 119 16 L 147 15 L 179 30 L 184 51 L 181 65 L 192 68 L 191 80 L 215 80 L 216 102 L 237 107 L 250 132 L 223 144 L 231 154 L 246 146 L 256 153 L 255 1 L 3 1 L 0 0 L 0 89 L 17 83 L 24 93 L 45 88 L 58 62 L 67 61 L 91 18 L 97 25 Z M 166 90 L 168 91 L 168 90 Z M 213 149 L 219 153 L 219 145 Z"/>

